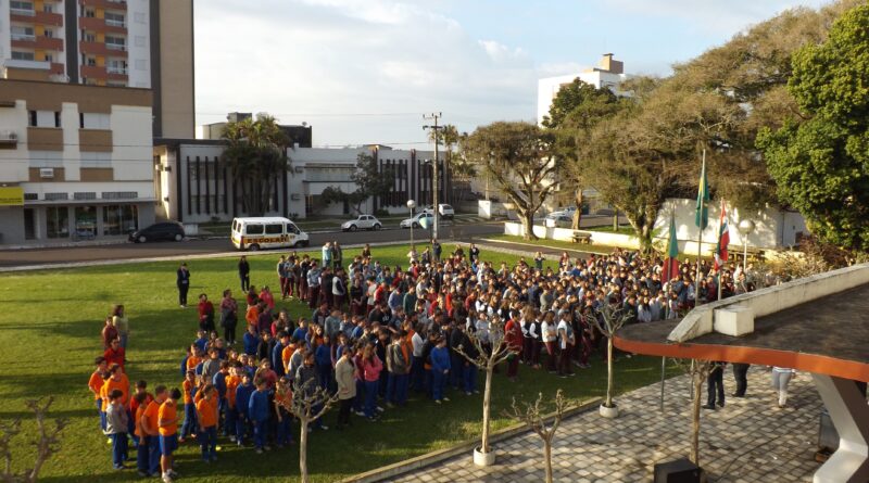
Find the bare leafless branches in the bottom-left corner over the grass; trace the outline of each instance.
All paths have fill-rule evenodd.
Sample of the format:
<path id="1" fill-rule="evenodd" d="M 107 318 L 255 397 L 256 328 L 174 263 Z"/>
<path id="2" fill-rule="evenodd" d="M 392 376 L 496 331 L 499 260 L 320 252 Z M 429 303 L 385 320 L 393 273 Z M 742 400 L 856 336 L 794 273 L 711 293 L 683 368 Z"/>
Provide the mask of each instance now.
<path id="1" fill-rule="evenodd" d="M 37 438 L 34 442 L 36 446 L 36 461 L 33 468 L 28 468 L 21 473 L 12 469 L 12 440 L 21 434 L 21 419 L 14 419 L 12 422 L 0 422 L 0 455 L 3 458 L 3 472 L 2 479 L 4 483 L 33 483 L 39 478 L 39 471 L 46 461 L 60 450 L 60 435 L 68 424 L 68 421 L 63 418 L 54 420 L 54 427 L 49 428 L 46 419 L 48 418 L 48 410 L 54 397 L 50 396 L 45 404 L 41 399 L 29 399 L 27 407 L 36 416 Z"/>

